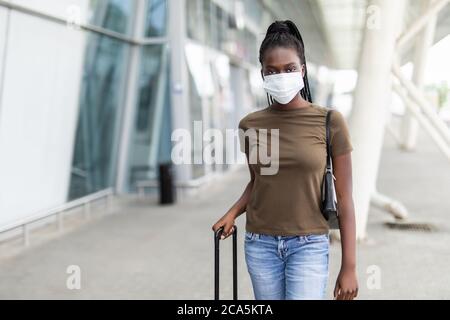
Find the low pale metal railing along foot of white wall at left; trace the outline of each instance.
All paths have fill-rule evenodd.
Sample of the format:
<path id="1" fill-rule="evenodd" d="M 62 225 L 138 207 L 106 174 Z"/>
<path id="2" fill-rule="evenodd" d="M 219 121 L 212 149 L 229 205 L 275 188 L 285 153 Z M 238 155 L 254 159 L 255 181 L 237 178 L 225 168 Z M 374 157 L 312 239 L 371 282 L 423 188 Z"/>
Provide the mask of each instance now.
<path id="1" fill-rule="evenodd" d="M 84 207 L 85 217 L 88 219 L 91 215 L 91 204 L 100 199 L 106 199 L 106 208 L 110 208 L 110 202 L 114 195 L 113 188 L 98 191 L 88 196 L 64 203 L 51 209 L 40 211 L 29 217 L 20 219 L 18 221 L 11 222 L 5 226 L 0 226 L 0 234 L 13 231 L 15 229 L 22 229 L 23 244 L 28 246 L 30 244 L 30 224 L 44 220 L 51 217 L 56 217 L 56 223 L 58 231 L 61 232 L 64 229 L 64 216 L 69 210 L 73 210 L 78 207 Z M 2 240 L 5 241 L 5 240 Z"/>

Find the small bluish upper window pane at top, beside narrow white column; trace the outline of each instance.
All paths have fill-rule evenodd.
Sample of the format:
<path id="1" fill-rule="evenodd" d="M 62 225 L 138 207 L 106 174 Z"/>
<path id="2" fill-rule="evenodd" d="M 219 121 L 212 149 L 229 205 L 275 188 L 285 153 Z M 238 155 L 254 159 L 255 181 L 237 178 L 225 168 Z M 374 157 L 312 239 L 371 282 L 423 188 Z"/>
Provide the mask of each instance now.
<path id="1" fill-rule="evenodd" d="M 167 0 L 148 0 L 146 37 L 162 37 L 167 31 Z"/>

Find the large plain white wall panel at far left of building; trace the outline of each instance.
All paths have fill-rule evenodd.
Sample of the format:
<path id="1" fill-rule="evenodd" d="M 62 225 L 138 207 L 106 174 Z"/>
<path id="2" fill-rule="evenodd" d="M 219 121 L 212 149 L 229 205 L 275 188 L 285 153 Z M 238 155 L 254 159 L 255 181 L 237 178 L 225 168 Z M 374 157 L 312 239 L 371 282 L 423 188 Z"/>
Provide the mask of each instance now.
<path id="1" fill-rule="evenodd" d="M 1 21 L 8 35 L 1 43 L 0 225 L 67 200 L 86 40 L 20 12 Z"/>

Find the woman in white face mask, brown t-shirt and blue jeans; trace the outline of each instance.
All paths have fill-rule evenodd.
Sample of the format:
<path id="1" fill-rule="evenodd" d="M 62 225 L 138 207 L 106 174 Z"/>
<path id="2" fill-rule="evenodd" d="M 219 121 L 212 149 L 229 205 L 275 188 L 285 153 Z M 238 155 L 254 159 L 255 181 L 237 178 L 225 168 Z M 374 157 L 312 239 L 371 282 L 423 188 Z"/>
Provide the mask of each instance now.
<path id="1" fill-rule="evenodd" d="M 292 21 L 275 21 L 260 48 L 261 75 L 269 106 L 245 116 L 242 130 L 279 129 L 276 174 L 261 174 L 250 163 L 251 180 L 240 199 L 213 225 L 222 239 L 247 213 L 245 259 L 255 298 L 323 299 L 328 280 L 329 227 L 323 217 L 321 182 L 326 166 L 327 108 L 311 102 L 302 37 Z M 267 137 L 267 145 L 271 141 Z M 342 260 L 334 297 L 357 296 L 355 217 L 348 128 L 333 110 L 330 141 L 339 208 Z M 243 147 L 245 145 L 245 147 Z"/>

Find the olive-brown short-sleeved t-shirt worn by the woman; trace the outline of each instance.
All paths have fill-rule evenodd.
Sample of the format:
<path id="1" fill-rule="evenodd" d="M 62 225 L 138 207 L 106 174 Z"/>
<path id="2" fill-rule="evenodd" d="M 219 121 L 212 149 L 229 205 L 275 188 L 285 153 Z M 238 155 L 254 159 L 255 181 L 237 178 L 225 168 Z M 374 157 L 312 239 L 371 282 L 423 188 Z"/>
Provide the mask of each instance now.
<path id="1" fill-rule="evenodd" d="M 269 106 L 241 119 L 241 151 L 246 153 L 255 174 L 246 207 L 247 231 L 267 235 L 328 232 L 328 223 L 320 210 L 328 110 L 316 104 L 293 110 Z M 278 129 L 278 132 L 272 129 Z M 251 132 L 256 132 L 256 136 Z M 264 136 L 266 139 L 262 138 Z M 278 140 L 278 148 L 274 150 L 271 146 L 276 144 L 272 139 Z M 330 118 L 330 141 L 333 157 L 353 150 L 345 119 L 334 109 Z M 263 151 L 257 151 L 261 148 Z M 252 152 L 268 155 L 270 162 L 259 155 L 256 163 L 249 161 Z M 270 174 L 261 170 L 269 167 L 272 168 Z"/>

